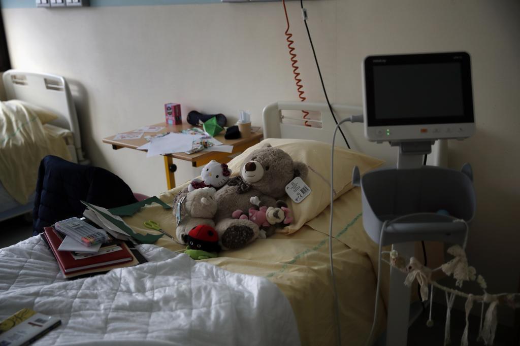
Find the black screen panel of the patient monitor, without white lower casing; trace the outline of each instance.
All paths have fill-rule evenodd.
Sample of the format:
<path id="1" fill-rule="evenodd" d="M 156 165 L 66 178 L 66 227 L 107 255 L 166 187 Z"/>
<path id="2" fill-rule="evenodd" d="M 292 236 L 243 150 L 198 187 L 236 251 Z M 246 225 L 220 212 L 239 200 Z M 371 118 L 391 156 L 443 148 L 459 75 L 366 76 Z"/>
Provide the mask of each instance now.
<path id="1" fill-rule="evenodd" d="M 467 61 L 446 54 L 367 58 L 368 125 L 473 122 L 469 56 L 463 57 Z"/>

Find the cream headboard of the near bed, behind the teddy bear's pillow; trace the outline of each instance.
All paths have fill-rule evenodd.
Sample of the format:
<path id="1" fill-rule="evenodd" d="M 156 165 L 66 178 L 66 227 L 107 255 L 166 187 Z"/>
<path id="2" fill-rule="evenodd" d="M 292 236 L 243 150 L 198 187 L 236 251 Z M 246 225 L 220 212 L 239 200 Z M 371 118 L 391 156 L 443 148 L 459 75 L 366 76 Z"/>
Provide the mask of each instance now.
<path id="1" fill-rule="evenodd" d="M 346 104 L 333 104 L 332 109 L 338 121 L 351 115 L 362 114 L 359 106 Z M 310 111 L 316 112 L 311 123 L 321 124 L 321 128 L 307 127 L 303 125 L 301 112 L 282 111 Z M 286 114 L 284 114 L 286 113 Z M 291 114 L 287 114 L 291 113 Z M 281 101 L 267 105 L 264 108 L 262 121 L 264 126 L 264 138 L 294 138 L 313 139 L 320 142 L 332 143 L 332 136 L 336 123 L 332 118 L 327 103 Z M 363 124 L 345 123 L 341 126 L 350 148 L 364 154 L 383 159 L 385 166 L 397 165 L 397 147 L 390 147 L 388 143 L 374 143 L 365 139 Z M 346 148 L 345 141 L 340 132 L 336 134 L 334 145 Z M 432 166 L 447 167 L 447 141 L 438 140 L 432 147 L 432 154 L 428 155 L 427 164 Z"/>

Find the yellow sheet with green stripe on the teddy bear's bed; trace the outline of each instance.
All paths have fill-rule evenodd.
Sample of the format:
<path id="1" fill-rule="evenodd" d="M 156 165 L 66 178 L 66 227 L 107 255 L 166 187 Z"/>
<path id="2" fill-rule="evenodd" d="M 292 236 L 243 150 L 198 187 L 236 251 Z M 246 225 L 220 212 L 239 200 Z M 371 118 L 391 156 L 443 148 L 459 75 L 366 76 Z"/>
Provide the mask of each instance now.
<path id="1" fill-rule="evenodd" d="M 163 193 L 160 198 L 171 204 L 175 193 L 183 187 Z M 334 203 L 334 273 L 339 292 L 342 340 L 348 345 L 362 345 L 366 341 L 372 323 L 376 284 L 377 248 L 363 230 L 360 201 L 360 191 L 356 188 Z M 257 239 L 243 249 L 224 251 L 218 258 L 206 260 L 231 272 L 262 276 L 275 283 L 292 305 L 304 345 L 335 344 L 329 215 L 329 209 L 326 209 L 296 233 L 278 233 L 267 239 Z M 146 206 L 125 221 L 136 231 L 145 233 L 149 230 L 142 222 L 149 219 L 159 222 L 163 230 L 175 235 L 172 209 L 164 210 L 159 205 Z M 157 245 L 173 251 L 184 250 L 166 237 Z M 388 275 L 385 274 L 383 288 L 387 287 L 387 282 Z M 379 306 L 378 331 L 381 332 L 386 324 L 386 304 L 381 301 Z"/>

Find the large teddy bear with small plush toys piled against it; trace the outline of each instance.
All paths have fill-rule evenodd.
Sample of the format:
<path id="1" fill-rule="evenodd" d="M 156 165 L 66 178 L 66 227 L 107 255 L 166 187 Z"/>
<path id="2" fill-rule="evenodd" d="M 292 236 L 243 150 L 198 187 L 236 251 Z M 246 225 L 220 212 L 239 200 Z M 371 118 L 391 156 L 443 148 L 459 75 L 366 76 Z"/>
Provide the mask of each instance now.
<path id="1" fill-rule="evenodd" d="M 177 226 L 177 239 L 180 242 L 187 242 L 188 233 L 193 227 L 205 224 L 215 228 L 223 249 L 239 249 L 258 237 L 274 234 L 276 228 L 292 222 L 291 211 L 280 198 L 284 197 L 285 185 L 291 180 L 306 177 L 307 166 L 304 163 L 295 162 L 283 150 L 267 145 L 246 157 L 238 177 L 228 180 L 230 171 L 227 166 L 217 162 L 212 161 L 206 166 L 203 168 L 203 183 L 218 190 L 215 192 L 209 187 L 194 189 L 196 186 L 190 184 L 191 191 L 190 188 L 185 189 L 174 200 L 174 209 L 184 210 L 184 215 L 189 215 L 188 220 L 180 216 L 179 222 L 177 218 L 180 225 Z M 222 176 L 226 177 L 223 184 Z M 217 179 L 215 185 L 208 178 Z M 198 192 L 206 189 L 213 192 Z M 212 194 L 213 199 L 210 198 Z M 202 212 L 196 210 L 198 208 L 207 210 Z M 180 214 L 177 212 L 176 216 Z M 201 219 L 204 222 L 195 224 Z"/>

